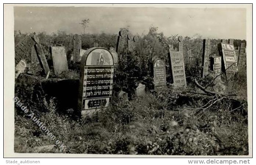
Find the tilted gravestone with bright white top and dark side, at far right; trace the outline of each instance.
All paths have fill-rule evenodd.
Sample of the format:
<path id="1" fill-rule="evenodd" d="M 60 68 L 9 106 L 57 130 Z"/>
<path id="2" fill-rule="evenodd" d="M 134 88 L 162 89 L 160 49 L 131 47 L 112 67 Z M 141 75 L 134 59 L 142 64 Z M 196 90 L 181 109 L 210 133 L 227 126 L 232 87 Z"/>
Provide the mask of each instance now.
<path id="1" fill-rule="evenodd" d="M 222 71 L 226 73 L 226 76 L 237 72 L 237 57 L 235 55 L 234 45 L 219 43 L 218 50 L 219 55 L 222 57 Z"/>

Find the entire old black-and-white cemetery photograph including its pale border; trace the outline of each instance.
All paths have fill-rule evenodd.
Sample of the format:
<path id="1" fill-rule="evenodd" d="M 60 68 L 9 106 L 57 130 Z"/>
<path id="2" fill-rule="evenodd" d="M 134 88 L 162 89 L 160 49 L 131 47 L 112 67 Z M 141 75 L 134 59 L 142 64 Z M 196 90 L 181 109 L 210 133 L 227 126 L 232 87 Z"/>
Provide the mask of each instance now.
<path id="1" fill-rule="evenodd" d="M 12 6 L 15 154 L 252 156 L 252 4 Z"/>

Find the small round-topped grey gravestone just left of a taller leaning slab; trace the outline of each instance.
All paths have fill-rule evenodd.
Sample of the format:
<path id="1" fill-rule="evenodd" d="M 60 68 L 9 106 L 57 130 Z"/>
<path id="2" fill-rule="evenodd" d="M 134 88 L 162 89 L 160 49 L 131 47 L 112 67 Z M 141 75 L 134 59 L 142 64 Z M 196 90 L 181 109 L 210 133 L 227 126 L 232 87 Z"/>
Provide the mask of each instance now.
<path id="1" fill-rule="evenodd" d="M 165 63 L 161 59 L 155 59 L 154 68 L 154 89 L 159 90 L 166 87 L 166 70 Z"/>

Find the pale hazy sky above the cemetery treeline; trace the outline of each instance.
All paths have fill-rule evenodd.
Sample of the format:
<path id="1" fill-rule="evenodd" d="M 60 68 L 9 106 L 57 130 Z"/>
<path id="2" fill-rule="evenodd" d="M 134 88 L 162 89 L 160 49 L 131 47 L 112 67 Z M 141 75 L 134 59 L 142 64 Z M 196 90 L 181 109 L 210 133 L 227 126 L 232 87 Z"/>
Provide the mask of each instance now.
<path id="1" fill-rule="evenodd" d="M 129 27 L 147 34 L 150 26 L 165 36 L 179 34 L 204 38 L 246 39 L 245 8 L 156 7 L 14 7 L 14 30 L 21 32 L 83 33 L 79 24 L 90 19 L 86 33 L 114 33 Z"/>

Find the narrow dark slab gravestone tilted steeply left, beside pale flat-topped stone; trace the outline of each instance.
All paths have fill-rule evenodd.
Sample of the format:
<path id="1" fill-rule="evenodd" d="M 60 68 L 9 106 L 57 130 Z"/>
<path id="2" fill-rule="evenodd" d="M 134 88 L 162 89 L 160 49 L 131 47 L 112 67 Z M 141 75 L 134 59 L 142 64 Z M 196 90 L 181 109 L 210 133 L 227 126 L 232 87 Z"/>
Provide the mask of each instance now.
<path id="1" fill-rule="evenodd" d="M 36 42 L 35 48 L 38 55 L 40 66 L 44 69 L 45 75 L 47 75 L 50 72 L 50 69 L 49 69 L 46 57 L 44 55 L 43 48 L 41 44 L 39 44 L 39 38 L 36 35 L 33 36 L 33 39 Z"/>

